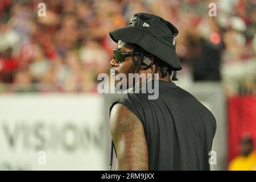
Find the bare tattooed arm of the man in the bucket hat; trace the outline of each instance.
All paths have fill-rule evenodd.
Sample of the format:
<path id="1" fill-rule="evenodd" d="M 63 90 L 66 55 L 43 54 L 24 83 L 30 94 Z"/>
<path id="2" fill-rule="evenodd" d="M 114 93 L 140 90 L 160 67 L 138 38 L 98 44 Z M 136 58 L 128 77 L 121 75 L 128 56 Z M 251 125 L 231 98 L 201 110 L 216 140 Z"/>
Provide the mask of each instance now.
<path id="1" fill-rule="evenodd" d="M 118 170 L 148 170 L 147 142 L 142 123 L 125 105 L 113 106 L 110 132 L 117 154 Z"/>

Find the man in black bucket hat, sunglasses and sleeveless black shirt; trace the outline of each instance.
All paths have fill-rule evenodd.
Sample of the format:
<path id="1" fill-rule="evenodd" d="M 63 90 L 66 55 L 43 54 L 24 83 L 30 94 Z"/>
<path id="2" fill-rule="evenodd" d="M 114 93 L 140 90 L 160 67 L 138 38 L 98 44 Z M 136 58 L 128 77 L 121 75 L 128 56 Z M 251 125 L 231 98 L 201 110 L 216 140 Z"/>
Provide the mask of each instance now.
<path id="1" fill-rule="evenodd" d="M 210 169 L 216 120 L 171 81 L 177 80 L 176 71 L 181 69 L 175 51 L 178 33 L 170 22 L 146 13 L 134 14 L 128 26 L 109 33 L 117 43 L 110 63 L 115 74 L 159 75 L 159 85 L 151 80 L 159 89 L 157 99 L 148 100 L 148 93 L 127 93 L 110 107 L 112 154 L 114 148 L 118 170 Z"/>

